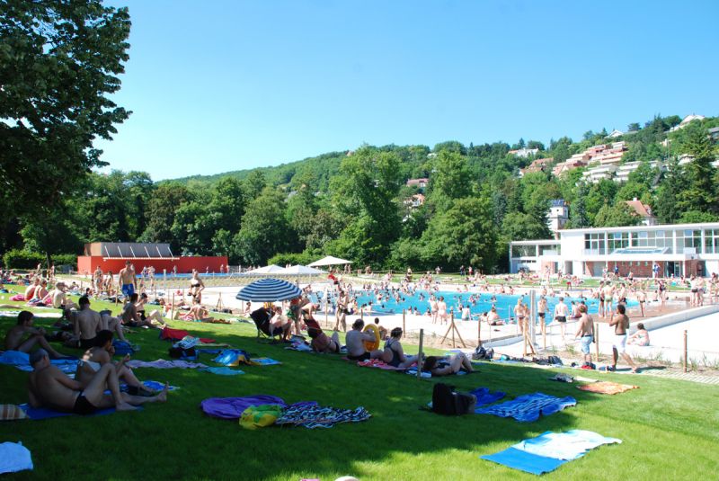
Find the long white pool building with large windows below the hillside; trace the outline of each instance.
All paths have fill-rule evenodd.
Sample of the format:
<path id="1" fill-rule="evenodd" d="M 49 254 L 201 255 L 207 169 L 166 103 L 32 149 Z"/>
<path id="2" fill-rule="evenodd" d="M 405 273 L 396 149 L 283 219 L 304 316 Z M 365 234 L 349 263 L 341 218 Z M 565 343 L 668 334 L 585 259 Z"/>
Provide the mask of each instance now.
<path id="1" fill-rule="evenodd" d="M 604 269 L 620 275 L 652 277 L 719 272 L 719 222 L 633 227 L 564 229 L 557 239 L 510 242 L 510 272 L 600 277 Z"/>

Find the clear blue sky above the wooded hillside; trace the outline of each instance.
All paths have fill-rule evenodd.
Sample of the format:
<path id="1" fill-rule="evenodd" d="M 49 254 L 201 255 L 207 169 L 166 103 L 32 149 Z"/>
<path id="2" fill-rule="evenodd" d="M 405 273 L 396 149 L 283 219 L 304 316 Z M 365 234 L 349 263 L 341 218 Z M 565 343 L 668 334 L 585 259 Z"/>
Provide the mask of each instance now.
<path id="1" fill-rule="evenodd" d="M 155 180 L 719 114 L 719 2 L 132 0 L 99 147 Z"/>

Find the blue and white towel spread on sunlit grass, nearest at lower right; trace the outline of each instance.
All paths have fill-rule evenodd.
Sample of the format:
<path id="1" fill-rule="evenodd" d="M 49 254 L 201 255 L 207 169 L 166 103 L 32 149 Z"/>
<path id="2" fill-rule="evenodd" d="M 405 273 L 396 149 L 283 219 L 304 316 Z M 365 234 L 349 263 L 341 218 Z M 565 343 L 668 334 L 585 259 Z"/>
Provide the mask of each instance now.
<path id="1" fill-rule="evenodd" d="M 617 438 L 606 438 L 591 431 L 547 431 L 536 438 L 521 441 L 506 450 L 480 458 L 538 476 L 554 471 L 573 459 L 581 458 L 602 444 L 621 442 Z"/>

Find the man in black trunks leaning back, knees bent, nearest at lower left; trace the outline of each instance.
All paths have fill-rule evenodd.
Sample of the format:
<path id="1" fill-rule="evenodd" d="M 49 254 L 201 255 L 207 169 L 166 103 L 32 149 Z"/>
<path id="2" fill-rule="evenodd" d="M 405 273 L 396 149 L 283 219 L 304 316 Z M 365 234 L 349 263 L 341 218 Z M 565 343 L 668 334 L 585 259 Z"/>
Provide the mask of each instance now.
<path id="1" fill-rule="evenodd" d="M 100 409 L 114 407 L 118 411 L 134 411 L 135 405 L 167 400 L 168 386 L 157 396 L 132 396 L 120 392 L 115 366 L 108 362 L 95 373 L 85 386 L 70 379 L 57 366 L 50 364 L 48 352 L 40 349 L 30 356 L 33 371 L 28 382 L 28 397 L 32 407 L 48 407 L 66 413 L 93 414 Z M 111 394 L 104 394 L 109 389 Z"/>

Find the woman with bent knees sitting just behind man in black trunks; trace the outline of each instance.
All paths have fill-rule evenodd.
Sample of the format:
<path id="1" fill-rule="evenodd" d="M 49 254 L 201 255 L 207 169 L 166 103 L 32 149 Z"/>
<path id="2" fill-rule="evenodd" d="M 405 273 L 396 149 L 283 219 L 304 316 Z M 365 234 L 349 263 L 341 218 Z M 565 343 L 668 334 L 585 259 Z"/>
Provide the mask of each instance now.
<path id="1" fill-rule="evenodd" d="M 75 379 L 86 387 L 93 380 L 94 375 L 108 362 L 115 366 L 115 372 L 118 379 L 125 381 L 128 385 L 128 392 L 134 396 L 153 396 L 155 393 L 149 391 L 135 377 L 125 362 L 129 361 L 129 355 L 125 356 L 120 362 L 112 362 L 112 356 L 115 354 L 115 348 L 112 347 L 111 331 L 100 331 L 94 338 L 93 347 L 84 352 L 83 359 L 78 362 L 75 371 Z"/>

